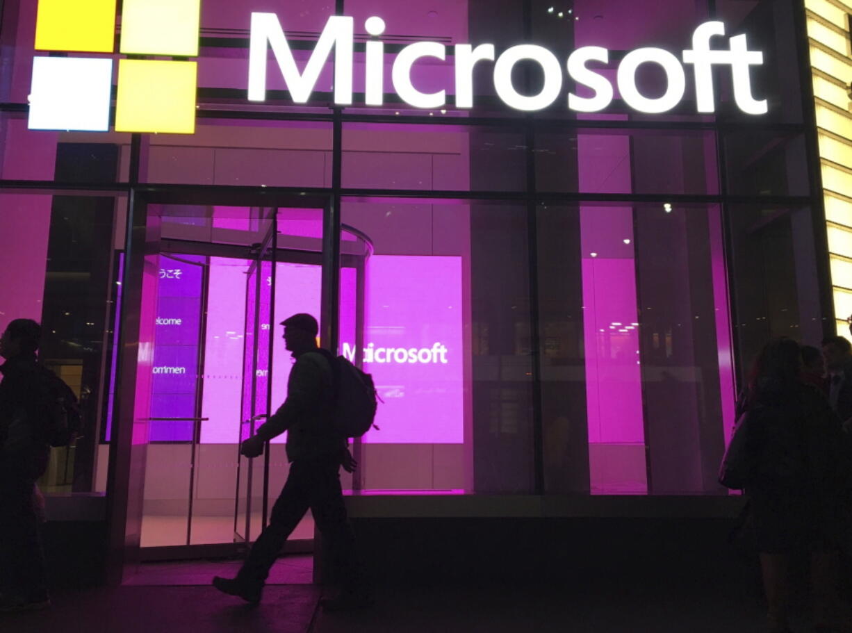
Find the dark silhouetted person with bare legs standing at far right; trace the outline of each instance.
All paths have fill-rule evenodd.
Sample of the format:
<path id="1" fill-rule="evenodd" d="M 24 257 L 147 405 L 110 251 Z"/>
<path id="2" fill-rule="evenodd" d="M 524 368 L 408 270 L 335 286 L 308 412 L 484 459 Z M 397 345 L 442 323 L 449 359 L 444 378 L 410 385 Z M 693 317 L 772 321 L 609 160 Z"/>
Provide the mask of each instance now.
<path id="1" fill-rule="evenodd" d="M 751 498 L 769 630 L 788 631 L 788 567 L 809 555 L 817 630 L 836 607 L 838 550 L 849 525 L 849 452 L 840 420 L 823 394 L 802 382 L 796 342 L 780 339 L 761 351 L 746 392 Z M 824 627 L 820 629 L 819 627 Z"/>

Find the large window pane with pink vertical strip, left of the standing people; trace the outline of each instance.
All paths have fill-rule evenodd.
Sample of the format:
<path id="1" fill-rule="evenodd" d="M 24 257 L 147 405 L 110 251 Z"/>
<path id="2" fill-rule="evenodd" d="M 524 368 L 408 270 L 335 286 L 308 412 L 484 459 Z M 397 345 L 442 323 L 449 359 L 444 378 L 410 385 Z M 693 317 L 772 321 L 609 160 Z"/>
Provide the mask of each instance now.
<path id="1" fill-rule="evenodd" d="M 724 493 L 734 377 L 717 206 L 548 204 L 538 238 L 546 488 Z"/>

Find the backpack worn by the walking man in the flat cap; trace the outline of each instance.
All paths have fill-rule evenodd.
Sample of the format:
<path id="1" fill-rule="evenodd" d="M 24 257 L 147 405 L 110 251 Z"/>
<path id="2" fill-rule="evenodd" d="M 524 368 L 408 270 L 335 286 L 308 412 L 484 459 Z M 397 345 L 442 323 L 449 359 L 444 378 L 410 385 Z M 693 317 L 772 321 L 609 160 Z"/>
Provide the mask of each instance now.
<path id="1" fill-rule="evenodd" d="M 334 377 L 334 426 L 346 437 L 360 437 L 374 427 L 378 395 L 372 377 L 353 365 L 345 356 L 335 358 L 331 352 L 320 349 L 331 364 Z"/>

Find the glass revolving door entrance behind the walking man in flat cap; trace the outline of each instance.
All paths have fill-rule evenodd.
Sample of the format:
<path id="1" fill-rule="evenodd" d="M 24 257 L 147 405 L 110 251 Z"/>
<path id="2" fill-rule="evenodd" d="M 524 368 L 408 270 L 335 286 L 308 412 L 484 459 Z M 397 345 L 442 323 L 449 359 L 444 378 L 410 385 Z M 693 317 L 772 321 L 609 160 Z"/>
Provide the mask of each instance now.
<path id="1" fill-rule="evenodd" d="M 251 460 L 239 442 L 285 398 L 291 357 L 279 321 L 297 312 L 321 320 L 324 210 L 166 200 L 147 211 L 158 248 L 146 256 L 140 311 L 150 332 L 140 342 L 150 360 L 141 559 L 239 552 L 266 524 L 288 471 L 285 436 Z M 345 227 L 340 244 L 339 292 L 357 299 L 371 245 Z M 363 300 L 345 302 L 339 323 L 361 339 Z M 291 547 L 310 550 L 313 536 L 308 516 Z"/>

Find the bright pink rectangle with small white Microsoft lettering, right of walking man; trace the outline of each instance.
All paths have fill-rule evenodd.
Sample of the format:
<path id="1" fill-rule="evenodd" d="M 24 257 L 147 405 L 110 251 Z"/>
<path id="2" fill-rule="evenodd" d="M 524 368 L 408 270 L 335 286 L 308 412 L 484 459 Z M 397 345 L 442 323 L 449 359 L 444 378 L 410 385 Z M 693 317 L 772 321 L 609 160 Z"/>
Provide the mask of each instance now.
<path id="1" fill-rule="evenodd" d="M 367 279 L 364 368 L 384 404 L 364 440 L 462 443 L 462 258 L 372 256 Z"/>

